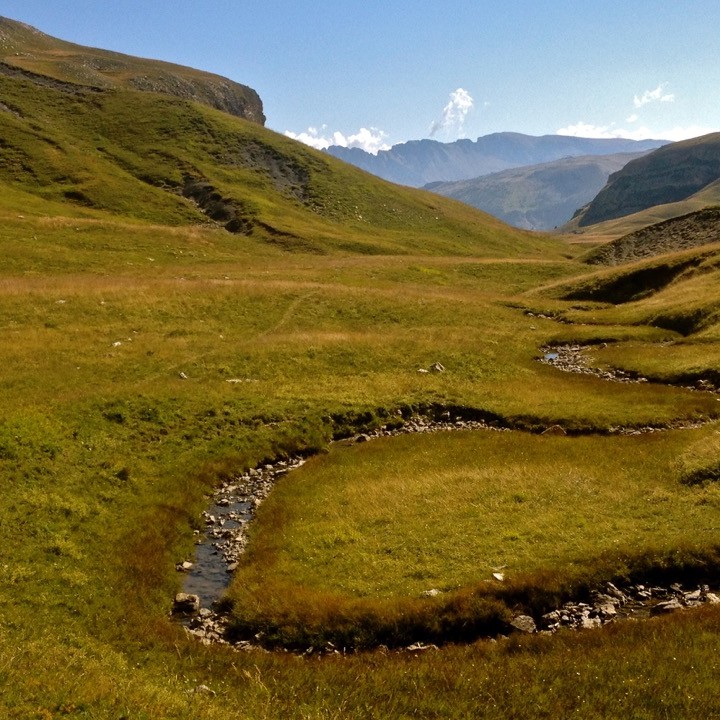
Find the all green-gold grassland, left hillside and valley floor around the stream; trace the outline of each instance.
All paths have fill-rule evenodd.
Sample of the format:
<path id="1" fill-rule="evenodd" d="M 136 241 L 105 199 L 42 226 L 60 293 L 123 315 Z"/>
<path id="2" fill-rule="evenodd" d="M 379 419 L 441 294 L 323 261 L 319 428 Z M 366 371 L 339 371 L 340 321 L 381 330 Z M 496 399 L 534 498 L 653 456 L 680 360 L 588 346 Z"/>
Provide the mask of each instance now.
<path id="1" fill-rule="evenodd" d="M 719 377 L 715 246 L 590 270 L 207 103 L 43 77 L 0 78 L 0 715 L 720 713 L 717 606 L 504 637 L 717 578 L 720 404 L 686 387 Z M 649 381 L 538 362 L 558 343 Z M 498 429 L 347 442 L 417 414 Z M 367 651 L 189 637 L 208 494 L 297 454 L 226 606 L 254 646 Z"/>

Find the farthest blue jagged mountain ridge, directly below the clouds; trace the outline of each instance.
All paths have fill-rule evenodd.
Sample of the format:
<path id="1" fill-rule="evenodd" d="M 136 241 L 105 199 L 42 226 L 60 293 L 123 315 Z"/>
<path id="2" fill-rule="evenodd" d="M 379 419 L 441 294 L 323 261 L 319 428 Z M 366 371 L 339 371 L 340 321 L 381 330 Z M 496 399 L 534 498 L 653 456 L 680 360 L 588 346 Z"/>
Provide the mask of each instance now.
<path id="1" fill-rule="evenodd" d="M 577 138 L 567 135 L 534 137 L 521 133 L 493 133 L 472 140 L 441 143 L 416 140 L 372 155 L 359 148 L 329 147 L 326 152 L 345 162 L 401 185 L 422 187 L 431 182 L 469 180 L 525 165 L 564 157 L 644 152 L 663 140 Z"/>

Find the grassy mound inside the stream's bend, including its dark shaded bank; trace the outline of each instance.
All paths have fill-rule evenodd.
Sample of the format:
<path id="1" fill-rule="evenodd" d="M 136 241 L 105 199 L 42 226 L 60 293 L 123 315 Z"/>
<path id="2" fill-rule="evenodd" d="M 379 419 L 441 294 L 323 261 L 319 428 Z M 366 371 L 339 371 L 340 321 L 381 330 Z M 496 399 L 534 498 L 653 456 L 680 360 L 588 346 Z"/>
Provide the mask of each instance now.
<path id="1" fill-rule="evenodd" d="M 720 495 L 683 488 L 674 460 L 691 437 L 487 431 L 333 449 L 260 509 L 234 631 L 294 647 L 467 641 L 603 580 L 683 579 L 702 548 L 707 580 Z"/>

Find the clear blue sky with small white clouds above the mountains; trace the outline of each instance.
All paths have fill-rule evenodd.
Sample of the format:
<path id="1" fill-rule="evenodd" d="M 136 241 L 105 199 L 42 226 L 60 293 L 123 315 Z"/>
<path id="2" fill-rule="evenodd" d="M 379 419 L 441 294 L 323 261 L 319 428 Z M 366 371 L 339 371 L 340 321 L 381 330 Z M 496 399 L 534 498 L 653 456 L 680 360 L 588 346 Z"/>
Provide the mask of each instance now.
<path id="1" fill-rule="evenodd" d="M 0 0 L 0 15 L 250 85 L 268 127 L 316 146 L 720 130 L 717 0 Z"/>

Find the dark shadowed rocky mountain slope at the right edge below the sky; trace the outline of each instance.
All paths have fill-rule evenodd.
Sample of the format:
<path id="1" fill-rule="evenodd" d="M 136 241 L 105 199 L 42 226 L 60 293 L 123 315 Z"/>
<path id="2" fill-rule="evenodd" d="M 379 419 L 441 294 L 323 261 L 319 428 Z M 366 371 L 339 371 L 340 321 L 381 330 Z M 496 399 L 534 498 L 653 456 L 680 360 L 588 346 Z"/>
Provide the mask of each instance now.
<path id="1" fill-rule="evenodd" d="M 672 143 L 633 160 L 582 210 L 586 227 L 685 200 L 720 179 L 720 133 Z"/>

